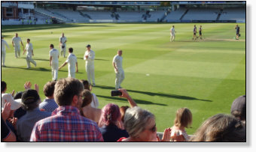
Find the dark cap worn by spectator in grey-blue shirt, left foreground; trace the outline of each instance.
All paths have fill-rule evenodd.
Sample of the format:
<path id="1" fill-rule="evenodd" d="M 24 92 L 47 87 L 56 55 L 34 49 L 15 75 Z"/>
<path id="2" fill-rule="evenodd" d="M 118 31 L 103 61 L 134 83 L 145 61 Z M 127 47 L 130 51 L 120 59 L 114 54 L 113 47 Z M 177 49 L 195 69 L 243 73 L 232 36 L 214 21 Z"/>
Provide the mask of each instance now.
<path id="1" fill-rule="evenodd" d="M 38 95 L 38 91 L 29 89 L 23 92 L 21 99 L 24 104 L 30 104 L 38 101 L 40 97 Z"/>

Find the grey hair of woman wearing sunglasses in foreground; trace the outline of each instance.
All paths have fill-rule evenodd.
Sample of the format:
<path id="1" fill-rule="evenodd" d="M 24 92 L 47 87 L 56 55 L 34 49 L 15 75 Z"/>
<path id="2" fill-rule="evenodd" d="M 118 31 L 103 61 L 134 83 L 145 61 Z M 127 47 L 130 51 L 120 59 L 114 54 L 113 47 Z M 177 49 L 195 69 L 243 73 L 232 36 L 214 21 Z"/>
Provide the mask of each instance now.
<path id="1" fill-rule="evenodd" d="M 135 106 L 126 110 L 123 126 L 129 136 L 136 138 L 145 130 L 148 121 L 152 119 L 154 119 L 154 115 L 151 112 Z"/>

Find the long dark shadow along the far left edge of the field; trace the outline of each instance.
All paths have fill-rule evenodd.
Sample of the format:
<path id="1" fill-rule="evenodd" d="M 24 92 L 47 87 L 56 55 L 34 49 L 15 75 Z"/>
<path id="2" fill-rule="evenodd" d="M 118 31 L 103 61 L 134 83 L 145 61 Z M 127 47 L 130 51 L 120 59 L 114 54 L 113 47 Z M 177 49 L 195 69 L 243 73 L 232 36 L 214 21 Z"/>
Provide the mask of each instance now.
<path id="1" fill-rule="evenodd" d="M 76 28 L 76 27 L 83 27 L 83 26 L 84 27 L 110 27 L 111 25 L 90 25 L 90 24 L 8 25 L 8 26 L 2 26 L 2 32 L 45 30 L 45 29 L 54 29 L 54 28 Z"/>

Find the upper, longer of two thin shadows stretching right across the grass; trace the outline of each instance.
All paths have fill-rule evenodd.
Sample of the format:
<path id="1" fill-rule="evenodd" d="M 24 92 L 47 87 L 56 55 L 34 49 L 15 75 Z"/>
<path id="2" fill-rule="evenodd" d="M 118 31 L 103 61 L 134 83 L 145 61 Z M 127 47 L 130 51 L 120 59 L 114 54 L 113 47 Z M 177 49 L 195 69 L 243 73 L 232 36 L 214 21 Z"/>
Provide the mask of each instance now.
<path id="1" fill-rule="evenodd" d="M 105 85 L 96 85 L 95 87 L 102 88 L 102 89 L 108 89 L 108 90 L 115 90 L 114 87 L 105 86 Z M 147 94 L 149 96 L 160 96 L 160 97 L 169 97 L 179 100 L 200 100 L 200 101 L 206 101 L 206 102 L 212 102 L 212 100 L 203 100 L 203 99 L 197 99 L 196 97 L 188 97 L 188 96 L 181 96 L 177 94 L 161 94 L 161 93 L 155 93 L 155 92 L 147 92 L 147 91 L 134 91 L 127 89 L 128 92 L 134 92 L 138 94 Z"/>

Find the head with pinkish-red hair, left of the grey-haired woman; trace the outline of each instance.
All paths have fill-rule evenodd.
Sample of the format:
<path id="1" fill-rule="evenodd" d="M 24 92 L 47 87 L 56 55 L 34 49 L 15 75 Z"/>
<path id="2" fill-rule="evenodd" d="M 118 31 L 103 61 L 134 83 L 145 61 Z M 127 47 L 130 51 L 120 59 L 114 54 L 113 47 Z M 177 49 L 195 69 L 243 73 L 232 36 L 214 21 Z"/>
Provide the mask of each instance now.
<path id="1" fill-rule="evenodd" d="M 99 127 L 109 124 L 117 124 L 120 121 L 120 109 L 114 103 L 108 103 L 102 108 L 102 115 L 99 119 Z"/>

